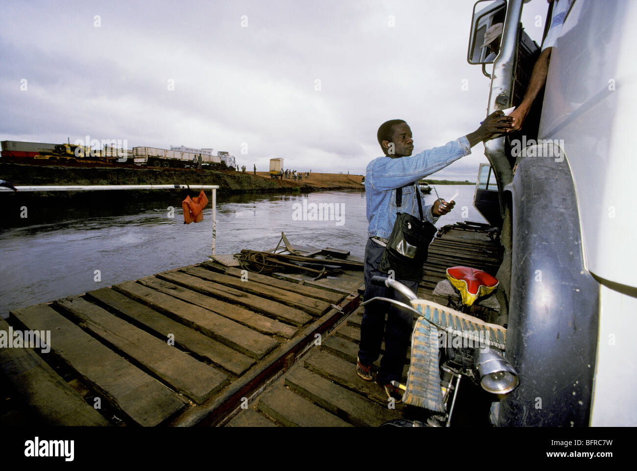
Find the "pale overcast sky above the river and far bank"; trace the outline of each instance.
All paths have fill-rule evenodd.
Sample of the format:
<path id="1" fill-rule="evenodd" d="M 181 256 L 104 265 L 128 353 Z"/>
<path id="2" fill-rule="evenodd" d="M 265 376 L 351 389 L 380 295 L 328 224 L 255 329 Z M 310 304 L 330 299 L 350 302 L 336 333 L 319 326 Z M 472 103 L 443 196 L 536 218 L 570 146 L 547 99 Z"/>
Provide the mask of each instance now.
<path id="1" fill-rule="evenodd" d="M 489 81 L 466 62 L 473 3 L 4 1 L 0 140 L 88 135 L 211 147 L 260 171 L 282 157 L 362 174 L 385 120 L 410 124 L 415 152 L 482 121 Z M 539 43 L 547 2 L 524 8 Z M 436 178 L 475 181 L 482 154 Z"/>

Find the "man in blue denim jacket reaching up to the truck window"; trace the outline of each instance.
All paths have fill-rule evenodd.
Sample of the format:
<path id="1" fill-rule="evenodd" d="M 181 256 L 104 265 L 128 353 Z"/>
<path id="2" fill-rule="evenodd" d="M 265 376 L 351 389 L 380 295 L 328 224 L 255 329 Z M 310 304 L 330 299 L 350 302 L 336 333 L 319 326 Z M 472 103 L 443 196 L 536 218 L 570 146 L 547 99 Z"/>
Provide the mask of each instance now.
<path id="1" fill-rule="evenodd" d="M 378 270 L 380 258 L 385 250 L 387 239 L 392 233 L 396 213 L 410 213 L 420 217 L 415 181 L 437 172 L 447 165 L 471 153 L 475 144 L 486 141 L 495 134 L 508 132 L 513 118 L 496 111 L 482 122 L 480 127 L 459 137 L 455 141 L 422 151 L 412 156 L 412 130 L 403 120 L 391 120 L 383 123 L 378 129 L 378 143 L 385 157 L 378 157 L 369 162 L 365 174 L 365 191 L 367 197 L 367 219 L 369 221 L 369 239 L 365 248 L 365 299 L 376 296 L 399 299 L 397 293 L 385 286 L 371 285 L 371 277 L 387 276 Z M 408 186 L 406 186 L 408 185 Z M 403 188 L 404 187 L 404 188 Z M 396 207 L 396 189 L 402 188 L 402 204 Z M 433 205 L 423 205 L 423 215 L 427 221 L 434 223 L 443 214 L 454 207 L 455 202 L 436 200 Z M 418 282 L 397 279 L 414 293 L 417 293 Z M 387 326 L 385 326 L 387 313 Z M 366 381 L 373 380 L 371 365 L 380 355 L 380 344 L 385 335 L 385 355 L 378 370 L 378 383 L 385 386 L 388 397 L 397 402 L 401 391 L 391 385 L 391 381 L 400 381 L 403 374 L 404 359 L 410 343 L 413 315 L 408 311 L 387 307 L 381 302 L 371 303 L 365 307 L 361 323 L 361 346 L 356 366 L 357 374 Z"/>

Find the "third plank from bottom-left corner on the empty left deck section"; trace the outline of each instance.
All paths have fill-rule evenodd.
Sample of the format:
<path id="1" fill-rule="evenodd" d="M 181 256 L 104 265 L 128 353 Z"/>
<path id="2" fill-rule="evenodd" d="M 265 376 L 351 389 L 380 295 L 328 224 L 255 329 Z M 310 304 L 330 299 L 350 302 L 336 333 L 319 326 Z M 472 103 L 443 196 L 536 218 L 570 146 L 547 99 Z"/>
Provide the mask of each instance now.
<path id="1" fill-rule="evenodd" d="M 85 299 L 71 296 L 57 300 L 55 304 L 65 309 L 83 327 L 101 337 L 111 348 L 134 358 L 141 369 L 159 377 L 162 382 L 197 404 L 203 403 L 228 382 L 226 374 Z"/>

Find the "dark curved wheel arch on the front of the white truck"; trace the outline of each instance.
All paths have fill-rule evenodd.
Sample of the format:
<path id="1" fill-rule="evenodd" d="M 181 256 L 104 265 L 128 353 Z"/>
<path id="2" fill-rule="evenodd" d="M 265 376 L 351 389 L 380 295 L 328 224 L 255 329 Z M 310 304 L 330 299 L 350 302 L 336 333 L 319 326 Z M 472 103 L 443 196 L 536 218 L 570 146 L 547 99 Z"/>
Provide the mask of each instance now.
<path id="1" fill-rule="evenodd" d="M 599 284 L 583 268 L 568 159 L 534 147 L 506 186 L 513 240 L 506 357 L 520 386 L 501 400 L 497 425 L 588 426 Z"/>

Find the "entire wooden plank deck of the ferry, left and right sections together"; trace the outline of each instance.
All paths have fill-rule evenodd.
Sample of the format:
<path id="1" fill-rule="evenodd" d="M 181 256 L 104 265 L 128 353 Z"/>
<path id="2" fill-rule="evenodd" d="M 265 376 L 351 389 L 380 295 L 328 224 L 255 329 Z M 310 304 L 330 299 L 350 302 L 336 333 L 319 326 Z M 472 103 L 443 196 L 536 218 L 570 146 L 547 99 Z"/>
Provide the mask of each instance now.
<path id="1" fill-rule="evenodd" d="M 452 229 L 429 248 L 419 296 L 446 304 L 431 292 L 447 267 L 495 274 L 501 258 L 484 234 Z M 302 272 L 245 274 L 210 260 L 11 311 L 14 329 L 51 331 L 51 352 L 0 349 L 0 423 L 378 426 L 420 418 L 403 404 L 389 407 L 381 386 L 355 374 L 362 272 L 316 281 Z M 409 355 L 404 376 L 408 364 Z"/>

